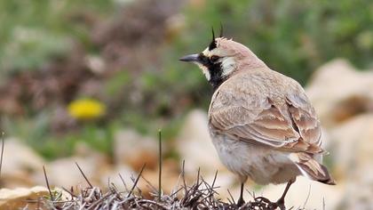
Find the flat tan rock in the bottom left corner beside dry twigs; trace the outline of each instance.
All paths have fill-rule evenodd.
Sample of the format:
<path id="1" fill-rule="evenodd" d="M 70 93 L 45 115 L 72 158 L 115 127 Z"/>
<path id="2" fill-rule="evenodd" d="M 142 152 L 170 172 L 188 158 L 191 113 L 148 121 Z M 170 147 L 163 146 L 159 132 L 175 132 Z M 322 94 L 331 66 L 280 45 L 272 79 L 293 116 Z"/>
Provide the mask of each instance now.
<path id="1" fill-rule="evenodd" d="M 0 209 L 23 209 L 25 206 L 28 206 L 27 209 L 37 209 L 37 202 L 28 202 L 28 200 L 37 201 L 39 198 L 44 196 L 49 196 L 49 190 L 40 186 L 31 189 L 1 189 Z"/>

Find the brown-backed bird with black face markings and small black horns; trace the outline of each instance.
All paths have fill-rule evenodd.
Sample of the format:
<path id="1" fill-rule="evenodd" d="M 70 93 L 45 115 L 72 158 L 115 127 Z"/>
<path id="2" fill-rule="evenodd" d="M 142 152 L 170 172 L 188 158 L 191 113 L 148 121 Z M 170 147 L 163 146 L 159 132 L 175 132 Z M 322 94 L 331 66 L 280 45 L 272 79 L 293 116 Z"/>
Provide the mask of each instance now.
<path id="1" fill-rule="evenodd" d="M 220 34 L 193 62 L 212 85 L 208 127 L 218 158 L 241 182 L 237 206 L 245 204 L 244 183 L 287 182 L 273 203 L 284 198 L 298 175 L 335 185 L 322 156 L 321 123 L 306 92 L 291 77 L 270 69 L 248 47 Z"/>

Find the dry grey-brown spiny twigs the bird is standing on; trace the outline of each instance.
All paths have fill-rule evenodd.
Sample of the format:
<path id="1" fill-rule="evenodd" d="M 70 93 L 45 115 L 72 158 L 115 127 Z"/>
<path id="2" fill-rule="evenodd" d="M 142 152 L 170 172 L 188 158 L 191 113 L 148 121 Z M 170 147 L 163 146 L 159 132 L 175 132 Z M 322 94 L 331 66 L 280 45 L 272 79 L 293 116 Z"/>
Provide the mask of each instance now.
<path id="1" fill-rule="evenodd" d="M 183 164 L 184 165 L 184 164 Z M 77 165 L 78 166 L 78 165 Z M 83 170 L 78 166 L 83 177 Z M 217 174 L 213 182 L 206 182 L 199 171 L 197 173 L 193 185 L 188 186 L 185 182 L 184 173 L 179 176 L 175 190 L 170 195 L 164 195 L 156 189 L 145 177 L 142 176 L 142 167 L 139 175 L 132 177 L 132 187 L 127 188 L 127 184 L 123 182 L 126 190 L 119 191 L 113 183 L 110 183 L 105 192 L 98 187 L 91 186 L 91 183 L 86 179 L 90 187 L 83 190 L 74 191 L 73 189 L 65 190 L 67 193 L 61 191 L 50 190 L 50 197 L 41 198 L 37 201 L 37 206 L 40 209 L 275 209 L 273 203 L 268 199 L 258 197 L 253 198 L 252 201 L 246 203 L 242 207 L 238 207 L 234 198 L 228 198 L 228 202 L 224 202 L 218 198 L 218 186 L 215 186 Z M 122 178 L 122 176 L 120 176 Z M 140 179 L 147 182 L 151 189 L 152 198 L 145 198 L 142 191 L 137 187 Z M 123 180 L 123 179 L 122 179 Z M 45 174 L 45 182 L 48 184 L 48 178 Z M 63 198 L 65 195 L 65 198 Z M 66 196 L 68 195 L 68 196 Z"/>

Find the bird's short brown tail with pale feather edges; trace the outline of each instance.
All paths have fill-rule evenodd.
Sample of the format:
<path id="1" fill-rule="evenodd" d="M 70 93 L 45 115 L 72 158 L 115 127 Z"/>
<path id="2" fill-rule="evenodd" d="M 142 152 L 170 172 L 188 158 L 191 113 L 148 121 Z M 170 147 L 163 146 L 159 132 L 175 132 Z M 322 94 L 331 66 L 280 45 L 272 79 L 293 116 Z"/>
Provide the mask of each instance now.
<path id="1" fill-rule="evenodd" d="M 298 166 L 299 171 L 309 179 L 329 185 L 336 184 L 328 169 L 317 162 L 310 154 L 306 152 L 292 153 L 290 159 Z"/>

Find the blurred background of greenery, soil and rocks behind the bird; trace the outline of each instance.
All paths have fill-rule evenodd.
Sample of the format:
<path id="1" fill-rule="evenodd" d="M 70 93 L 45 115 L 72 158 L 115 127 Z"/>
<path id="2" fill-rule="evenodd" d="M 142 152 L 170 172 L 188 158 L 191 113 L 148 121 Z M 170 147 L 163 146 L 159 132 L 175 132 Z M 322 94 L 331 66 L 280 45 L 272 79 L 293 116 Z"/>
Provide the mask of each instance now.
<path id="1" fill-rule="evenodd" d="M 299 178 L 293 206 L 373 209 L 373 2 L 212 0 L 0 0 L 0 187 L 157 183 L 162 129 L 164 191 L 181 162 L 195 177 L 219 170 L 218 190 L 238 193 L 207 132 L 212 90 L 179 57 L 201 52 L 210 29 L 250 47 L 298 80 L 325 128 L 336 187 Z M 218 32 L 217 32 L 218 33 Z M 147 189 L 147 183 L 142 183 Z M 276 199 L 283 186 L 248 190 Z M 310 193 L 308 192 L 310 190 Z M 302 195 L 299 197 L 299 195 Z M 247 194 L 249 199 L 249 194 Z"/>

